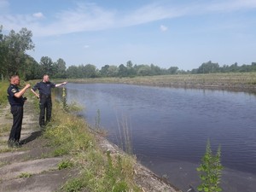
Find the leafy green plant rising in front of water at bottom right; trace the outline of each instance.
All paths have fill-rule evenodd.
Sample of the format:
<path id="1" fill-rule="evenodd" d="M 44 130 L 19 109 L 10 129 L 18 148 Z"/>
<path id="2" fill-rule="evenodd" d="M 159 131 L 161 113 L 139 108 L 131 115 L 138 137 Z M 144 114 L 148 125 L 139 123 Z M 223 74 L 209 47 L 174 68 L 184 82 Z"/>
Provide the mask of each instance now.
<path id="1" fill-rule="evenodd" d="M 212 154 L 210 141 L 207 141 L 206 153 L 201 160 L 201 165 L 196 169 L 200 172 L 201 184 L 198 186 L 199 191 L 218 192 L 220 188 L 220 177 L 223 166 L 220 163 L 220 146 L 217 154 Z"/>

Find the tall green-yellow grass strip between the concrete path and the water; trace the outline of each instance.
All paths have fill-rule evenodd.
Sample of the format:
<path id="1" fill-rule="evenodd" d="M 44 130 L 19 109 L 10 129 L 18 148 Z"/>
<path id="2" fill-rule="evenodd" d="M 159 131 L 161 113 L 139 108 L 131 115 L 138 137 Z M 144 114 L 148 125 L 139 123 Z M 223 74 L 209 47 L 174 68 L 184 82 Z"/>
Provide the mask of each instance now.
<path id="1" fill-rule="evenodd" d="M 68 181 L 60 191 L 140 191 L 133 181 L 135 160 L 126 154 L 103 153 L 84 119 L 67 113 L 61 103 L 54 102 L 53 106 L 53 118 L 44 137 L 55 148 L 53 155 L 70 156 L 80 170 L 78 177 Z"/>

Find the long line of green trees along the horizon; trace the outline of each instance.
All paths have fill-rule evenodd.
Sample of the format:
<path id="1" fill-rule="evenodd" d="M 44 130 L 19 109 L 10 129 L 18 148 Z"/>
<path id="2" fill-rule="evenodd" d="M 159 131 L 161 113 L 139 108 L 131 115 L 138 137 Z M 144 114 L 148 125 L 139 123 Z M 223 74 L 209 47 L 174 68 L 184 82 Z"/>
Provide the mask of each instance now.
<path id="1" fill-rule="evenodd" d="M 154 64 L 133 64 L 127 61 L 119 66 L 105 65 L 97 69 L 92 64 L 72 65 L 66 67 L 63 59 L 52 61 L 49 56 L 42 56 L 36 61 L 27 55 L 27 50 L 35 48 L 32 42 L 32 31 L 22 28 L 20 32 L 11 30 L 8 35 L 3 34 L 3 26 L 0 26 L 0 75 L 2 79 L 8 79 L 13 74 L 19 74 L 22 79 L 41 79 L 44 73 L 54 79 L 84 79 L 101 77 L 136 77 L 167 74 L 197 74 L 197 73 L 245 73 L 255 72 L 256 62 L 251 65 L 238 66 L 237 63 L 219 67 L 218 63 L 207 61 L 200 67 L 191 71 L 184 71 L 178 67 L 161 68 Z"/>

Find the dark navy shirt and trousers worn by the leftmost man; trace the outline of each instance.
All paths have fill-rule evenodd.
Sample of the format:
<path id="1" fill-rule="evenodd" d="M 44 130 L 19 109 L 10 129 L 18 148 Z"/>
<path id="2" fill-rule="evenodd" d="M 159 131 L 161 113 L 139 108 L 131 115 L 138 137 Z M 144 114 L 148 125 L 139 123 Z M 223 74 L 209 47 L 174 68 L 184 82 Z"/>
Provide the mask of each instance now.
<path id="1" fill-rule="evenodd" d="M 19 143 L 20 141 L 20 132 L 23 119 L 23 105 L 25 98 L 20 96 L 20 98 L 15 97 L 15 93 L 19 92 L 19 88 L 15 84 L 10 84 L 7 90 L 9 104 L 11 106 L 11 113 L 14 117 L 14 122 L 12 129 L 9 134 L 9 144 L 10 143 Z"/>

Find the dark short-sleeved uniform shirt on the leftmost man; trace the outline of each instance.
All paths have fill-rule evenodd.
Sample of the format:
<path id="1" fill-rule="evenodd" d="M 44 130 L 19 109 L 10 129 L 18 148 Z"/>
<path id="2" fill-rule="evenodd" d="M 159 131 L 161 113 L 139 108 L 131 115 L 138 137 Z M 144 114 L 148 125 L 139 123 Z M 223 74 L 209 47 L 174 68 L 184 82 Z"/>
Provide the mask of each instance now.
<path id="1" fill-rule="evenodd" d="M 23 106 L 24 105 L 24 98 L 20 96 L 20 98 L 15 97 L 15 93 L 19 92 L 19 88 L 15 84 L 10 84 L 9 88 L 7 89 L 8 100 L 11 106 Z"/>

